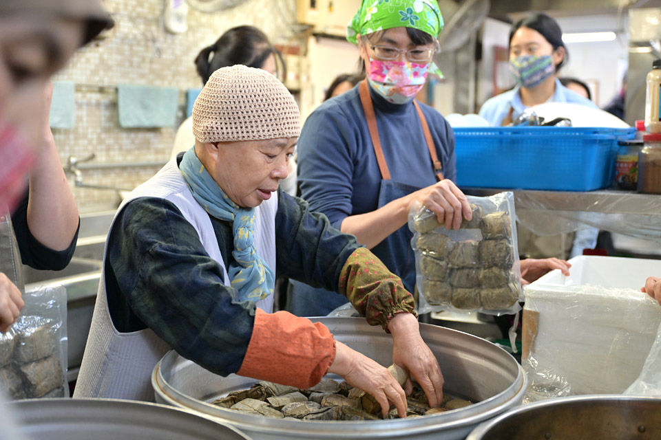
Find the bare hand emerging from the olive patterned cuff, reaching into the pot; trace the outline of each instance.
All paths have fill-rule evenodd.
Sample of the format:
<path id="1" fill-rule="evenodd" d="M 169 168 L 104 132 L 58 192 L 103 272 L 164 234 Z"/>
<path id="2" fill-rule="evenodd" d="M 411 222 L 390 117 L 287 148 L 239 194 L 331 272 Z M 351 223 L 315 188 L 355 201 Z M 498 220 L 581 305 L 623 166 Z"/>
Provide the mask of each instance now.
<path id="1" fill-rule="evenodd" d="M 392 362 L 406 370 L 422 387 L 429 406 L 443 403 L 443 374 L 434 353 L 420 336 L 418 320 L 412 314 L 397 314 L 388 323 L 392 334 Z M 410 380 L 404 386 L 407 395 L 412 392 Z"/>

